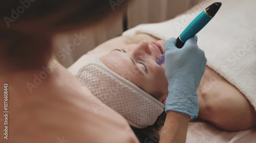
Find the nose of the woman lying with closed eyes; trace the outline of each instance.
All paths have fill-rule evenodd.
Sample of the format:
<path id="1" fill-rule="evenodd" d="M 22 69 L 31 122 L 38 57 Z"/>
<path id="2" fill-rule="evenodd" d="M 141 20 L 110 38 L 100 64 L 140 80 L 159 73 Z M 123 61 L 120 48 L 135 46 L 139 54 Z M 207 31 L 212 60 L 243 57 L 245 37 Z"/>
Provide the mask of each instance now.
<path id="1" fill-rule="evenodd" d="M 133 54 L 135 57 L 144 55 L 144 54 L 151 54 L 150 46 L 148 45 L 148 42 L 146 40 L 142 40 L 139 42 L 137 47 L 134 49 Z"/>

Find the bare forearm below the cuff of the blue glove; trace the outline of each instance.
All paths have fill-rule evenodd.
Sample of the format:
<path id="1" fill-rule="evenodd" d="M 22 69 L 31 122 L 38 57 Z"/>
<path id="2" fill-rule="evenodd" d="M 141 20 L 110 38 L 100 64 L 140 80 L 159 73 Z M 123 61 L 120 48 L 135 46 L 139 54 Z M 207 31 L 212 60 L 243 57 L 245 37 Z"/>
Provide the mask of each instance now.
<path id="1" fill-rule="evenodd" d="M 160 143 L 186 142 L 189 116 L 176 111 L 168 111 L 163 129 L 160 133 Z"/>

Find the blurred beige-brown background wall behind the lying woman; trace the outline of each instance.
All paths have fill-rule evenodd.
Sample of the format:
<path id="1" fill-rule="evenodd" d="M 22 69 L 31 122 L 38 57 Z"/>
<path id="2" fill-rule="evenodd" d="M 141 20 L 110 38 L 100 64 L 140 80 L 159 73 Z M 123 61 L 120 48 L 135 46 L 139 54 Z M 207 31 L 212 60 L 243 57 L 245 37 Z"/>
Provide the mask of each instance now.
<path id="1" fill-rule="evenodd" d="M 54 56 L 60 64 L 68 68 L 89 50 L 106 40 L 120 36 L 125 30 L 123 19 L 126 19 L 126 28 L 128 29 L 141 23 L 161 22 L 175 17 L 199 2 L 202 0 L 132 1 L 126 12 L 118 14 L 115 18 L 112 17 L 108 23 L 104 21 L 80 31 L 57 35 L 54 42 Z M 113 12 L 115 12 L 114 9 Z M 79 36 L 81 37 L 77 38 Z M 79 40 L 76 42 L 77 44 L 73 42 L 75 39 Z"/>

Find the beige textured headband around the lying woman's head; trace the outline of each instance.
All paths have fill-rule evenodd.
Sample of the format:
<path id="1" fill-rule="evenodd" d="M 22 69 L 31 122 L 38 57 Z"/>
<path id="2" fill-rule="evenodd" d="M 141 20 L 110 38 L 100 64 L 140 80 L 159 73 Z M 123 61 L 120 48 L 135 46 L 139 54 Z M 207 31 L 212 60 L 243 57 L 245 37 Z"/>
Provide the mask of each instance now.
<path id="1" fill-rule="evenodd" d="M 153 125 L 164 111 L 164 104 L 101 61 L 96 62 L 81 68 L 77 73 L 78 80 L 104 104 L 120 113 L 131 126 L 145 128 Z"/>

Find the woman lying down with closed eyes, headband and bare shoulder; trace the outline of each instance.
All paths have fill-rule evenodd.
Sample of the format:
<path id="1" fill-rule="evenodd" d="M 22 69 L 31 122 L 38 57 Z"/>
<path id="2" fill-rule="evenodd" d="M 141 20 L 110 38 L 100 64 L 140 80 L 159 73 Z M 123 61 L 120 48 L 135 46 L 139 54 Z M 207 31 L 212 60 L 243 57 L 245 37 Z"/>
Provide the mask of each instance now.
<path id="1" fill-rule="evenodd" d="M 77 74 L 83 85 L 130 123 L 141 141 L 146 136 L 159 138 L 165 120 L 168 81 L 165 63 L 156 63 L 164 53 L 164 44 L 150 35 L 136 35 L 131 44 L 113 49 Z M 212 77 L 218 79 L 216 84 L 210 84 Z M 246 130 L 256 124 L 255 110 L 245 96 L 207 66 L 197 97 L 197 119 L 227 131 Z"/>

